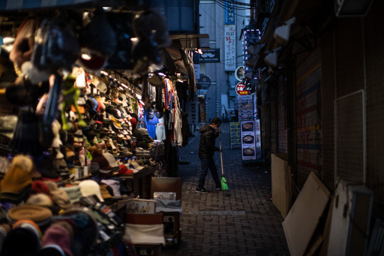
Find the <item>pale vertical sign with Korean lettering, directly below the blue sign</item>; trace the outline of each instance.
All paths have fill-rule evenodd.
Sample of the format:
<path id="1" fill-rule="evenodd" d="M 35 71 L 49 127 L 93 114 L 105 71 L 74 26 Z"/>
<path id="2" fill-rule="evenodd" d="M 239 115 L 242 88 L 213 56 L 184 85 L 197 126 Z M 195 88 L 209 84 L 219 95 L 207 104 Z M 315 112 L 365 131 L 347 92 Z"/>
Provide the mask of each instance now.
<path id="1" fill-rule="evenodd" d="M 236 70 L 236 25 L 224 27 L 224 70 Z"/>

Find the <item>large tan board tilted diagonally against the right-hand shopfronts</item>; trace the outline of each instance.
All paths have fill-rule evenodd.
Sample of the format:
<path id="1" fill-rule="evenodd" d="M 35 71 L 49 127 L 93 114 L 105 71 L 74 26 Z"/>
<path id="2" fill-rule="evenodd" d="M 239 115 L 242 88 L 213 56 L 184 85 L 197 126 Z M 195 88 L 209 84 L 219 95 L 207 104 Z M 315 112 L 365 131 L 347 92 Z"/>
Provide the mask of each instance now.
<path id="1" fill-rule="evenodd" d="M 292 256 L 301 256 L 306 252 L 330 195 L 328 188 L 311 172 L 282 223 Z"/>

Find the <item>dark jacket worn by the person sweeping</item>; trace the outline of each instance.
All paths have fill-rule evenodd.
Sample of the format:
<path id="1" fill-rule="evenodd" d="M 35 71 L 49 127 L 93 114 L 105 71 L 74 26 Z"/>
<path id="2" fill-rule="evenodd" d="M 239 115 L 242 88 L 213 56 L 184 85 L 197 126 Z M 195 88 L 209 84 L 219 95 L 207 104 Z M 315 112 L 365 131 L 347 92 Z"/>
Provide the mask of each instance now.
<path id="1" fill-rule="evenodd" d="M 219 135 L 218 132 L 215 132 L 215 129 L 210 127 L 209 124 L 203 124 L 198 132 L 201 133 L 200 146 L 198 147 L 198 157 L 201 159 L 212 158 L 213 153 L 220 150 L 217 146 L 215 146 L 215 139 Z"/>

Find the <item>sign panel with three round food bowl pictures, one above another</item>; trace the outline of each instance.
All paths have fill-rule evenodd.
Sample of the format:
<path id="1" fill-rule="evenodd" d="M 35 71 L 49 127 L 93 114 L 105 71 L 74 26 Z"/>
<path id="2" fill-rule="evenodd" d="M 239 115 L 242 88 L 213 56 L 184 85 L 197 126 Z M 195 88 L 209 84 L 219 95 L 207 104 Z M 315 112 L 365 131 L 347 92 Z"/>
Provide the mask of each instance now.
<path id="1" fill-rule="evenodd" d="M 242 121 L 241 127 L 241 152 L 242 160 L 256 159 L 255 121 Z"/>

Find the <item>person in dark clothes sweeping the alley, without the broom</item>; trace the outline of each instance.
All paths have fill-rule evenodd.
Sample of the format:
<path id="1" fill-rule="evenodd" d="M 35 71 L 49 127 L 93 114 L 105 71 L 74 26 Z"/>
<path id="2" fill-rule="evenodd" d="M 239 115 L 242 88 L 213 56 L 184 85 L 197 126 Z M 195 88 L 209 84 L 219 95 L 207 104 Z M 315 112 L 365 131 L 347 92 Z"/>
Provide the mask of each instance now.
<path id="1" fill-rule="evenodd" d="M 213 181 L 215 181 L 215 190 L 221 190 L 221 183 L 218 177 L 218 169 L 216 168 L 215 161 L 213 161 L 213 154 L 215 151 L 222 152 L 222 149 L 219 149 L 215 146 L 215 139 L 219 137 L 221 129 L 219 128 L 221 124 L 221 119 L 218 117 L 213 117 L 210 121 L 210 124 L 203 124 L 199 129 L 200 135 L 200 144 L 198 148 L 198 157 L 201 160 L 201 171 L 200 178 L 198 178 L 198 186 L 196 187 L 197 193 L 208 193 L 206 188 L 204 188 L 204 183 L 206 183 L 206 176 L 208 174 L 208 169 L 210 174 L 212 174 Z"/>

